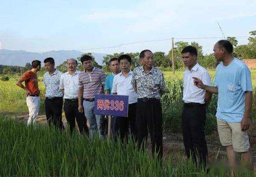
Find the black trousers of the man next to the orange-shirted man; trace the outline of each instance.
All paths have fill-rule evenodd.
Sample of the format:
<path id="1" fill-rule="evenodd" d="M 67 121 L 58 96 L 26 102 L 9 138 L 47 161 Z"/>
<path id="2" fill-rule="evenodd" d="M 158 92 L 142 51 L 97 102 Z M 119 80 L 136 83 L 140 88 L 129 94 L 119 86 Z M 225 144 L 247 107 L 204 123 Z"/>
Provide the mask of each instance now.
<path id="1" fill-rule="evenodd" d="M 53 126 L 58 127 L 60 131 L 64 130 L 62 122 L 62 105 L 63 97 L 46 97 L 44 100 L 45 114 L 49 126 L 53 124 Z"/>

